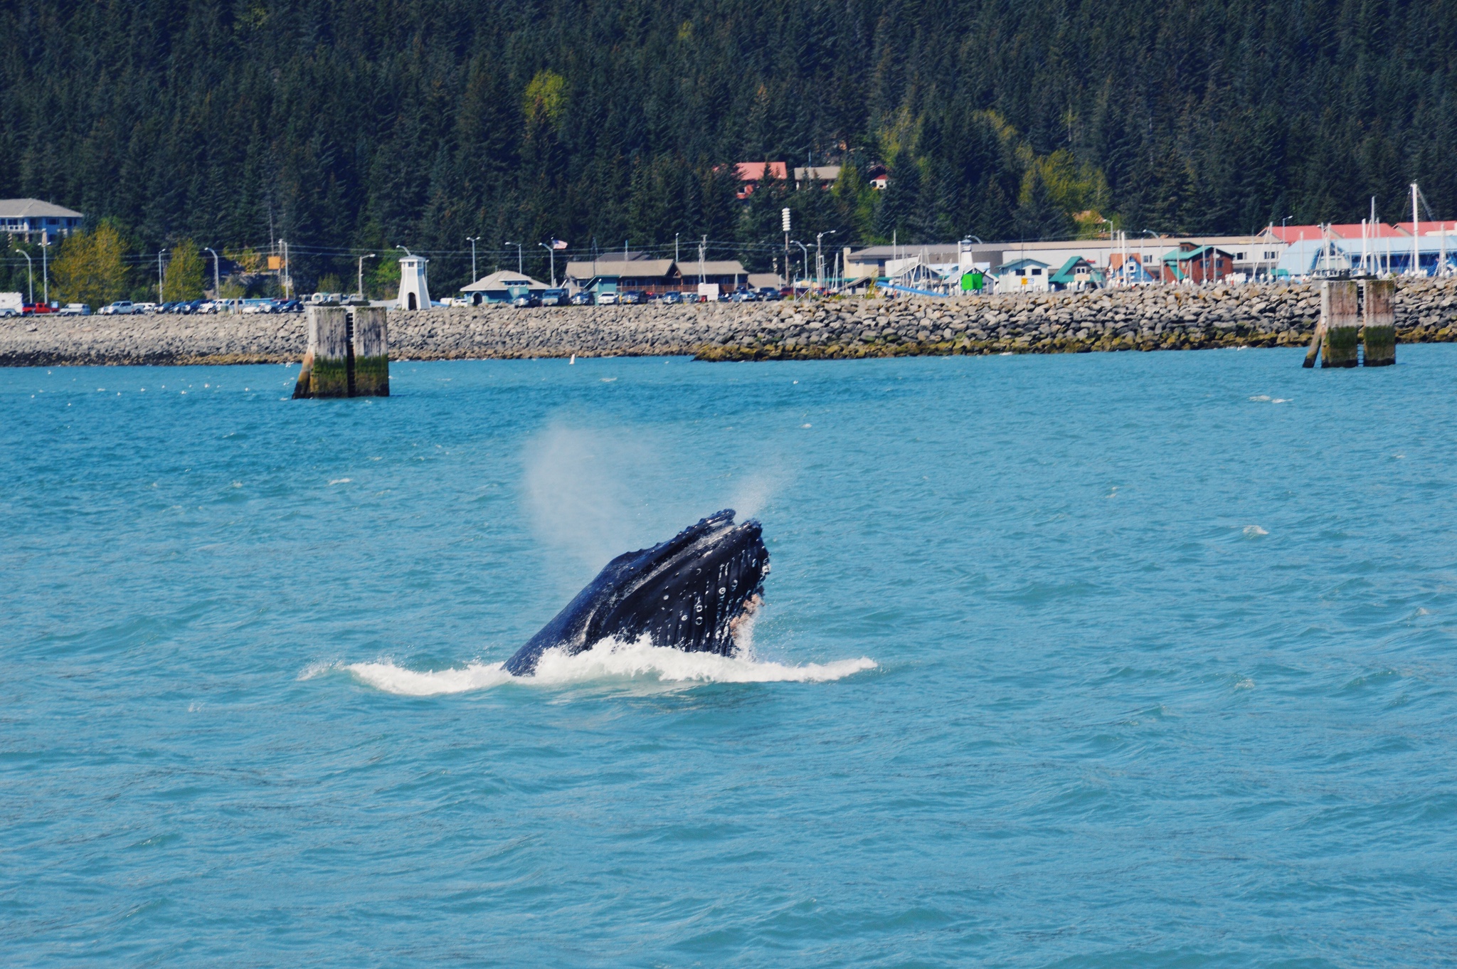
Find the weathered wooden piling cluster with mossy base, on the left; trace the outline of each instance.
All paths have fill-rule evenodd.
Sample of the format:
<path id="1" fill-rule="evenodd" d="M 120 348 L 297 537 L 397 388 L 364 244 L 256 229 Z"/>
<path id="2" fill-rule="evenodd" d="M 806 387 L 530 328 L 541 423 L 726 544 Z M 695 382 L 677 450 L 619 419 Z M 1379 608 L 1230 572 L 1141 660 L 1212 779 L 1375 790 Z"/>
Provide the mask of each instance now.
<path id="1" fill-rule="evenodd" d="M 309 351 L 293 396 L 389 396 L 385 307 L 310 306 Z"/>

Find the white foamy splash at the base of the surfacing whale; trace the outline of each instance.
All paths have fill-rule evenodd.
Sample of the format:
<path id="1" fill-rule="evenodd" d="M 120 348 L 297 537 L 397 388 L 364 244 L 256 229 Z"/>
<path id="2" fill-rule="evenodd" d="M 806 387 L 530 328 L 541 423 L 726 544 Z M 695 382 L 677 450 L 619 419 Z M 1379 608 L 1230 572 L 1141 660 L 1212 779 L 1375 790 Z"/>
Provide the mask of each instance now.
<path id="1" fill-rule="evenodd" d="M 396 666 L 388 659 L 338 664 L 338 669 L 388 694 L 436 697 L 491 689 L 503 683 L 565 686 L 622 679 L 647 679 L 659 683 L 823 683 L 877 666 L 879 663 L 865 656 L 791 666 L 756 660 L 749 651 L 740 656 L 717 656 L 651 646 L 647 640 L 629 644 L 606 640 L 576 656 L 548 650 L 532 676 L 511 676 L 503 663 L 469 663 L 463 667 L 420 672 Z M 335 664 L 331 663 L 325 669 L 332 667 Z M 307 676 L 300 675 L 300 679 L 316 676 L 312 669 L 305 670 Z"/>

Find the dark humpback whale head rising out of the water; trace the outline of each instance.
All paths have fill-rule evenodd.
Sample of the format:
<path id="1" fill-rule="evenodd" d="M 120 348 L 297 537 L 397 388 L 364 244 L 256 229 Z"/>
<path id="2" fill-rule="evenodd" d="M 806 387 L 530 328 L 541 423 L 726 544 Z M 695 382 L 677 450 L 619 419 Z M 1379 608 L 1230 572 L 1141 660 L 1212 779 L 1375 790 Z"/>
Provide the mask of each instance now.
<path id="1" fill-rule="evenodd" d="M 653 646 L 733 656 L 734 631 L 758 608 L 769 573 L 762 526 L 733 519 L 724 509 L 653 548 L 618 555 L 506 670 L 526 676 L 546 650 L 576 656 L 609 637 L 647 635 Z"/>

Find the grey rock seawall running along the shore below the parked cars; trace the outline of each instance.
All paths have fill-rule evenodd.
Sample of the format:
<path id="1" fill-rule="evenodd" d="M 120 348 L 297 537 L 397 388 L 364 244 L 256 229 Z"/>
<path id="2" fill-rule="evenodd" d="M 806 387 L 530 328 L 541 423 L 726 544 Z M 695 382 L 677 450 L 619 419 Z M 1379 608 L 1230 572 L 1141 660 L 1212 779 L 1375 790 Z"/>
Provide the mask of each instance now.
<path id="1" fill-rule="evenodd" d="M 1457 280 L 1397 284 L 1400 342 L 1457 341 Z M 1320 284 L 985 297 L 450 307 L 389 315 L 393 358 L 698 356 L 817 360 L 1305 345 Z M 302 315 L 0 321 L 0 366 L 293 363 Z"/>

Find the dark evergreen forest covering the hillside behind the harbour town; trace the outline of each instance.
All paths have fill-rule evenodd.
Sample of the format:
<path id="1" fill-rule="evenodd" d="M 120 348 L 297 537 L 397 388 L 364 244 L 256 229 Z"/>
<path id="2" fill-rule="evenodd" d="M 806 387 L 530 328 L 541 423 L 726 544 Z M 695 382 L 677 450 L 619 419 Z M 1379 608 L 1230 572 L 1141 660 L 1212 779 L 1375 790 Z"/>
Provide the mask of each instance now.
<path id="1" fill-rule="evenodd" d="M 545 277 L 554 238 L 768 270 L 781 207 L 812 248 L 1237 235 L 1372 197 L 1394 221 L 1413 181 L 1457 217 L 1454 25 L 1457 0 L 7 0 L 0 198 L 106 227 L 114 271 L 47 254 L 96 300 L 154 293 L 162 248 L 189 289 L 201 246 L 256 289 L 278 239 L 303 291 L 364 254 L 388 291 L 408 246 L 449 293 L 471 238 L 482 275 L 520 243 Z M 841 175 L 742 201 L 756 160 Z"/>

